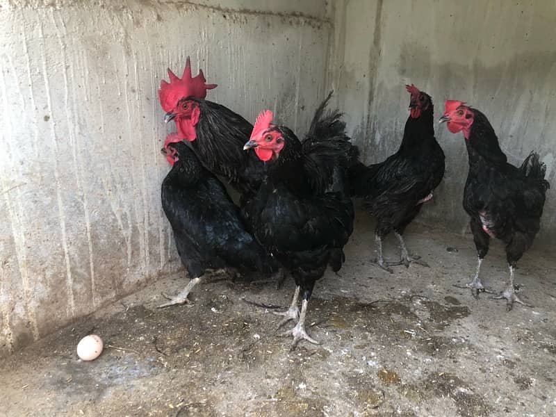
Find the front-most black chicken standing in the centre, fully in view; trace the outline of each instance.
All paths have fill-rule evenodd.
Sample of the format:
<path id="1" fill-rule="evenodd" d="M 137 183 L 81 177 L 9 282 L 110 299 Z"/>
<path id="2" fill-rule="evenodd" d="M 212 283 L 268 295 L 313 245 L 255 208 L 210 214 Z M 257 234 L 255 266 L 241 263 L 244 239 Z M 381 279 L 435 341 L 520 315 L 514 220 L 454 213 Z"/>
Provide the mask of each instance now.
<path id="1" fill-rule="evenodd" d="M 270 124 L 272 112 L 263 111 L 245 143 L 245 149 L 254 148 L 268 167 L 258 193 L 243 208 L 245 218 L 257 240 L 291 272 L 297 285 L 279 325 L 298 320 L 286 332 L 293 335 L 292 349 L 302 339 L 318 343 L 305 330 L 309 298 L 327 265 L 340 270 L 343 246 L 353 230 L 354 209 L 345 180 L 359 153 L 345 136 L 341 115 L 325 113 L 329 98 L 316 111 L 303 142 L 287 127 Z"/>

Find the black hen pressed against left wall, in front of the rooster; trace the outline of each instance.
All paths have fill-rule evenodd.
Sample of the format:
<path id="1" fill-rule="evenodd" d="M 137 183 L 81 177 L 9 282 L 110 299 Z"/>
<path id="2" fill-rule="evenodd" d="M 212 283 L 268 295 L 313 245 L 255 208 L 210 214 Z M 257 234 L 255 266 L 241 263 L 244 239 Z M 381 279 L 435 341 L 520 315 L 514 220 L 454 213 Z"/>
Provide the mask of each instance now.
<path id="1" fill-rule="evenodd" d="M 270 272 L 275 261 L 246 231 L 239 208 L 222 183 L 204 169 L 176 133 L 167 136 L 163 151 L 172 170 L 162 183 L 162 207 L 191 281 L 161 307 L 188 302 L 191 289 L 209 270 L 232 267 Z"/>

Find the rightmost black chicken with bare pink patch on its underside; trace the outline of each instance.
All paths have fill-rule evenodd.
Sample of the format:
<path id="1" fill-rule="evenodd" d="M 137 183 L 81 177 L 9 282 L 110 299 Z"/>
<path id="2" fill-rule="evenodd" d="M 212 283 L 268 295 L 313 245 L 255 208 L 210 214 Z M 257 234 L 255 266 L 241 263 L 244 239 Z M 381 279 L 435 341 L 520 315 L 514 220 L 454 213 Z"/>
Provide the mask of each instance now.
<path id="1" fill-rule="evenodd" d="M 495 298 L 506 299 L 508 311 L 514 302 L 529 306 L 514 292 L 514 269 L 540 229 L 546 190 L 550 187 L 544 179 L 546 165 L 534 152 L 521 167 L 507 163 L 489 120 L 476 108 L 465 106 L 464 101 L 446 100 L 440 122 L 448 122 L 452 133 L 464 132 L 469 156 L 464 209 L 471 218 L 478 261 L 475 276 L 467 286 L 475 297 L 484 291 L 479 278 L 481 263 L 489 252 L 490 238 L 497 238 L 506 245 L 509 286 Z"/>

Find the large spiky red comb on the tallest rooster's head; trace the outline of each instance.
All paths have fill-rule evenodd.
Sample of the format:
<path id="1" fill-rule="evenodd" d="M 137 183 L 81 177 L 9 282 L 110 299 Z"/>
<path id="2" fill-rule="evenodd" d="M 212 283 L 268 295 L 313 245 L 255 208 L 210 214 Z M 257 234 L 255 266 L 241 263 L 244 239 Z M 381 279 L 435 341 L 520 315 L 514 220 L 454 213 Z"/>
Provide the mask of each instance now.
<path id="1" fill-rule="evenodd" d="M 184 97 L 197 97 L 204 99 L 206 90 L 216 87 L 216 84 L 206 84 L 203 70 L 195 77 L 191 76 L 191 63 L 189 57 L 186 60 L 186 67 L 183 69 L 181 79 L 168 68 L 170 83 L 161 80 L 161 88 L 158 89 L 158 100 L 164 111 L 171 111 L 180 99 Z"/>

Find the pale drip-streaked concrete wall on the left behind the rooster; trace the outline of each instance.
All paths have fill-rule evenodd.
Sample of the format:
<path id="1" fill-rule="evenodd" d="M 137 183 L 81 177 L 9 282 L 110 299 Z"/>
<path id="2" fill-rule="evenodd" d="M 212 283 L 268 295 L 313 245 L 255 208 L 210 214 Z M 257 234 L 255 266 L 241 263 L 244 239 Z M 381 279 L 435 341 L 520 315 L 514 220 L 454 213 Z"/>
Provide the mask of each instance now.
<path id="1" fill-rule="evenodd" d="M 179 268 L 167 66 L 189 54 L 220 83 L 208 99 L 250 120 L 304 129 L 325 95 L 324 0 L 195 3 L 0 1 L 0 353 Z"/>

